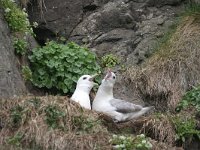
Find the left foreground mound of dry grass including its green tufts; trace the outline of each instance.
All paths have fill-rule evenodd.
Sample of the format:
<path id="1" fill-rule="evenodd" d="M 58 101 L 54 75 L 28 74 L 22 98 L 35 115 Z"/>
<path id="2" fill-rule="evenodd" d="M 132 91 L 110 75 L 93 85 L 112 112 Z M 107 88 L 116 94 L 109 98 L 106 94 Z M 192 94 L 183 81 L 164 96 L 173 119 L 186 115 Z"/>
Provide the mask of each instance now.
<path id="1" fill-rule="evenodd" d="M 3 149 L 111 149 L 98 114 L 66 96 L 2 100 L 0 108 Z M 13 126 L 12 120 L 19 125 Z"/>

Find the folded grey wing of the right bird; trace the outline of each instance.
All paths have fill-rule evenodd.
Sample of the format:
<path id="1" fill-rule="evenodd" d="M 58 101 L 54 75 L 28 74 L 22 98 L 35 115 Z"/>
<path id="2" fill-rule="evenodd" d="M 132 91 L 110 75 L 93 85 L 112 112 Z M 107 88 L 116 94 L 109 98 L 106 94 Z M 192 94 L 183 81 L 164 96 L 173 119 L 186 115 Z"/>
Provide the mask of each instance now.
<path id="1" fill-rule="evenodd" d="M 142 109 L 142 106 L 140 105 L 135 105 L 121 99 L 111 99 L 110 104 L 116 108 L 117 112 L 121 113 L 137 112 Z"/>

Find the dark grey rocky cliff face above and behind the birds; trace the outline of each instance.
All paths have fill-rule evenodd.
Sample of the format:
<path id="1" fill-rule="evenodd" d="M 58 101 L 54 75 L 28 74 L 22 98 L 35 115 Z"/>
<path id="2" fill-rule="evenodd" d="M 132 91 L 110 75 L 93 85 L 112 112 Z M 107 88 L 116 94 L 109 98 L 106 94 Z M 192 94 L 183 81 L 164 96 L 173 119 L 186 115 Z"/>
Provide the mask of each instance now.
<path id="1" fill-rule="evenodd" d="M 142 63 L 159 38 L 176 20 L 184 0 L 32 0 L 30 20 L 38 41 L 57 36 L 86 44 L 98 56 L 113 53 L 126 66 Z M 116 96 L 130 99 L 131 92 L 117 83 Z"/>

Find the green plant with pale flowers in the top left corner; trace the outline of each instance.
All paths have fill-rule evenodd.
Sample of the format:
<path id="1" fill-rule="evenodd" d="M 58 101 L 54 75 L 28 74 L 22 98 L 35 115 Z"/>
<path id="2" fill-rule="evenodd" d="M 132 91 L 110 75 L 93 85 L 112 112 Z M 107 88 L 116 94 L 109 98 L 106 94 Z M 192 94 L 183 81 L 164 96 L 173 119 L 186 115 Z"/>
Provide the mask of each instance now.
<path id="1" fill-rule="evenodd" d="M 28 14 L 25 10 L 21 10 L 14 0 L 1 0 L 0 4 L 5 11 L 5 19 L 12 31 L 33 33 Z"/>

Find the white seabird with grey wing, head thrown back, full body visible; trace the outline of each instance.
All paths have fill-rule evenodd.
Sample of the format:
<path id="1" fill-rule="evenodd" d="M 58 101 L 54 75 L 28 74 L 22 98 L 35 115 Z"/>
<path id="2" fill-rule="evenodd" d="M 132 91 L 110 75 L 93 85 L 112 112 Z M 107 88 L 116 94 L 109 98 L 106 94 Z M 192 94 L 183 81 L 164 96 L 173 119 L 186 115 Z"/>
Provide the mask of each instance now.
<path id="1" fill-rule="evenodd" d="M 142 107 L 133 103 L 115 99 L 113 97 L 113 86 L 116 81 L 116 75 L 109 71 L 102 80 L 101 85 L 94 98 L 92 109 L 98 112 L 103 112 L 112 117 L 115 122 L 128 121 L 138 118 L 154 108 Z"/>

